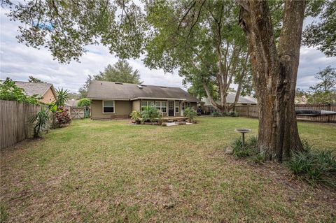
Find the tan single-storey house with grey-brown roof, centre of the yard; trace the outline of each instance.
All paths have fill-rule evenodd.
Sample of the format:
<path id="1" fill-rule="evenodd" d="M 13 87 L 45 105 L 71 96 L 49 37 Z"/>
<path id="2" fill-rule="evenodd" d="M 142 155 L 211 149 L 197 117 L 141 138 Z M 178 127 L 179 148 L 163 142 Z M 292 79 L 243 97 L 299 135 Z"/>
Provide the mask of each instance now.
<path id="1" fill-rule="evenodd" d="M 183 116 L 184 109 L 196 109 L 200 100 L 179 87 L 137 85 L 122 82 L 90 81 L 87 98 L 91 99 L 93 120 L 129 117 L 133 110 L 155 106 L 164 117 Z"/>

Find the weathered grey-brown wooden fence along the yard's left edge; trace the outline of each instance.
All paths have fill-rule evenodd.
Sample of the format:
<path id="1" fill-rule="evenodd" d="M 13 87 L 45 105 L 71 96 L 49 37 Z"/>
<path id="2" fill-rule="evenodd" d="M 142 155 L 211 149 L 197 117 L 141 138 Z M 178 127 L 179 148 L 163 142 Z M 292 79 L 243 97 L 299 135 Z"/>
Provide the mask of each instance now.
<path id="1" fill-rule="evenodd" d="M 40 106 L 0 100 L 0 149 L 33 136 L 29 120 L 38 110 Z"/>

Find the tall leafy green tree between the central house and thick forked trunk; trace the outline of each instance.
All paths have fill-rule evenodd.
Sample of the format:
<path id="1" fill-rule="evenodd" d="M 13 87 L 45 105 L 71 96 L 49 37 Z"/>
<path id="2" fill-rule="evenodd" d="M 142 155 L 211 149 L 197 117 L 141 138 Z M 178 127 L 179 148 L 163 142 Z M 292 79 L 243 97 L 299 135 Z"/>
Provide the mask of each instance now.
<path id="1" fill-rule="evenodd" d="M 195 96 L 207 96 L 222 112 L 235 106 L 251 78 L 246 36 L 237 24 L 233 1 L 151 1 L 146 7 L 153 27 L 147 38 L 145 63 L 154 69 L 179 69 Z M 228 105 L 230 86 L 237 84 Z M 216 102 L 220 100 L 220 103 Z"/>

